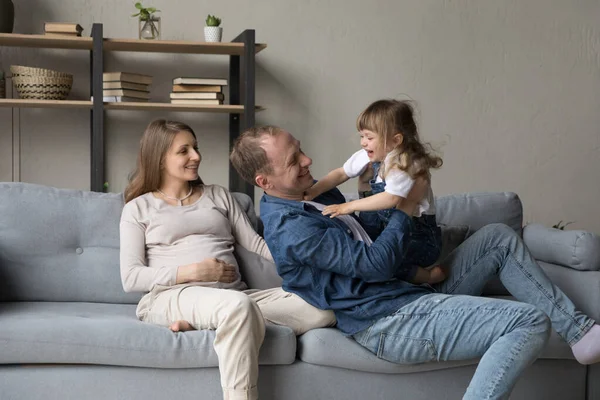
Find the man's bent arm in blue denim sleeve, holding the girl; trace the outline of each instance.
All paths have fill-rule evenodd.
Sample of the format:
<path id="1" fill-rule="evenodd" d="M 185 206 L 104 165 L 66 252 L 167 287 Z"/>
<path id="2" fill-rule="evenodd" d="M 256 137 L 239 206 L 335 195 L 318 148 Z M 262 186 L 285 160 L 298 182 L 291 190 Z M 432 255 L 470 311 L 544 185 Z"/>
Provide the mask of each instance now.
<path id="1" fill-rule="evenodd" d="M 366 282 L 385 282 L 394 278 L 404 258 L 411 221 L 406 213 L 393 211 L 386 229 L 368 246 L 320 218 L 289 215 L 272 233 L 287 236 L 277 240 L 275 261 L 283 268 L 286 264 L 311 266 Z"/>

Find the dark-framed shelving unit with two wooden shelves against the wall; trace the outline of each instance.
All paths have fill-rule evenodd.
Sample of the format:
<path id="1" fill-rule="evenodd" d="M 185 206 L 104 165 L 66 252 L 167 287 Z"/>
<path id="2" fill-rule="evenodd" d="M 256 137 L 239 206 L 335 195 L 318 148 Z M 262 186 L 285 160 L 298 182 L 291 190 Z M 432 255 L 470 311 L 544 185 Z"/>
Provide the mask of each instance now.
<path id="1" fill-rule="evenodd" d="M 264 108 L 255 104 L 255 55 L 267 45 L 255 43 L 254 30 L 245 30 L 229 43 L 192 41 L 151 41 L 138 39 L 108 39 L 103 37 L 102 24 L 93 24 L 91 37 L 55 37 L 0 33 L 0 46 L 50 49 L 87 50 L 90 52 L 89 100 L 22 100 L 0 99 L 0 107 L 9 108 L 73 108 L 90 110 L 90 186 L 102 191 L 105 182 L 104 112 L 124 111 L 187 111 L 229 114 L 230 149 L 240 133 L 253 126 L 255 113 Z M 114 51 L 212 54 L 229 56 L 229 104 L 218 106 L 180 105 L 171 103 L 104 103 L 102 73 L 104 54 Z M 253 198 L 254 188 L 229 167 L 229 189 L 243 192 Z"/>

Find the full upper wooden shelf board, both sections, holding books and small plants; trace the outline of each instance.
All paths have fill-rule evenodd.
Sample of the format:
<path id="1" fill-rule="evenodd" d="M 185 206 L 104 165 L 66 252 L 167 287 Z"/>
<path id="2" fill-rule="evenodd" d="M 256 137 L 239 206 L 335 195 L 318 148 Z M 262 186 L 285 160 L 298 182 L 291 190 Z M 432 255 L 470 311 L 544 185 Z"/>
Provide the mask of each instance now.
<path id="1" fill-rule="evenodd" d="M 0 33 L 0 46 L 92 50 L 92 38 Z M 256 54 L 266 47 L 267 45 L 264 43 L 257 43 L 254 53 Z M 184 40 L 104 39 L 103 48 L 104 51 L 148 53 L 242 55 L 244 52 L 243 43 L 207 43 Z"/>

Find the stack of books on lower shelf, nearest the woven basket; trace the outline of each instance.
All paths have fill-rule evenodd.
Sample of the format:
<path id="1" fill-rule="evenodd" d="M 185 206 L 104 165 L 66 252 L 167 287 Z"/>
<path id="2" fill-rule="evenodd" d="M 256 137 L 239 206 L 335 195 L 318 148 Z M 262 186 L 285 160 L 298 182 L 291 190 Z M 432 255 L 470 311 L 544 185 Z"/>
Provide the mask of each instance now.
<path id="1" fill-rule="evenodd" d="M 105 72 L 102 74 L 104 102 L 148 101 L 150 98 L 150 75 L 131 72 Z"/>

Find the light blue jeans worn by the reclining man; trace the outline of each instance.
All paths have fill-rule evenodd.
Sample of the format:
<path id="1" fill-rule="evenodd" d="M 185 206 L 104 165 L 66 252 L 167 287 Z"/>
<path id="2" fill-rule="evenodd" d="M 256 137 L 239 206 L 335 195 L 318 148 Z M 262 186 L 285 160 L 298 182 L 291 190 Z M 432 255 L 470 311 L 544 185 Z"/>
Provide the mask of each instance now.
<path id="1" fill-rule="evenodd" d="M 482 357 L 463 399 L 507 399 L 546 345 L 550 324 L 575 344 L 594 321 L 575 309 L 503 224 L 477 231 L 443 262 L 446 281 L 354 335 L 379 358 L 411 364 Z M 474 297 L 499 276 L 521 302 Z"/>

